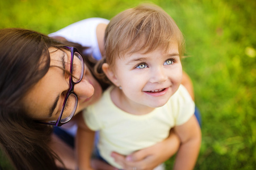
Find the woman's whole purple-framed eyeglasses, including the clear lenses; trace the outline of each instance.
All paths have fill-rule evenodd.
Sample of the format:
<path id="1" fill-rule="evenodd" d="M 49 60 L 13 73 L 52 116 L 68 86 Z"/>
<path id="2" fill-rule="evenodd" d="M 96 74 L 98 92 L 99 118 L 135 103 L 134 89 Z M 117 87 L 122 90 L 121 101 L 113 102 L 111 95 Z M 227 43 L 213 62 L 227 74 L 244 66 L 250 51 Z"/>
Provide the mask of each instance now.
<path id="1" fill-rule="evenodd" d="M 83 73 L 85 69 L 83 58 L 76 48 L 70 47 L 70 46 L 65 46 L 64 48 L 70 50 L 71 52 L 70 69 L 68 70 L 70 72 L 69 90 L 66 93 L 65 100 L 62 105 L 62 109 L 60 112 L 60 116 L 58 117 L 58 120 L 50 121 L 50 122 L 40 122 L 42 124 L 54 125 L 54 126 L 61 126 L 63 124 L 66 124 L 74 116 L 74 113 L 77 109 L 78 97 L 74 93 L 74 86 L 75 84 L 81 82 L 83 78 Z M 67 65 L 68 67 L 69 63 L 65 63 L 65 65 Z"/>

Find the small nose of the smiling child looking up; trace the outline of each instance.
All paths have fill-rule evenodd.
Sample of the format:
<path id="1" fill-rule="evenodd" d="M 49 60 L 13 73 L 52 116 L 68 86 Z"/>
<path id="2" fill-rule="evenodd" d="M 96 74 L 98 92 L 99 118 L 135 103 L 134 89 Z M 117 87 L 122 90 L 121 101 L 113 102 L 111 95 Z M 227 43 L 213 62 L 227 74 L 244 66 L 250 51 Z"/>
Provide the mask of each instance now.
<path id="1" fill-rule="evenodd" d="M 167 80 L 166 71 L 163 68 L 156 68 L 150 72 L 150 83 L 162 83 Z"/>

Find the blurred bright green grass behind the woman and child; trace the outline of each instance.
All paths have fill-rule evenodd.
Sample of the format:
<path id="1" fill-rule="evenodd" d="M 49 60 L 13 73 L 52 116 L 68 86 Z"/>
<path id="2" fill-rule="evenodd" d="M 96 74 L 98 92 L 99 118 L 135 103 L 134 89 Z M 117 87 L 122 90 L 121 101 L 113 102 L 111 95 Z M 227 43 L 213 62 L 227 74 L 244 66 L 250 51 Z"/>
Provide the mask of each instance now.
<path id="1" fill-rule="evenodd" d="M 0 0 L 0 28 L 48 34 L 85 18 L 111 19 L 141 2 Z M 256 169 L 256 1 L 150 2 L 174 18 L 186 39 L 183 69 L 194 83 L 203 121 L 195 169 Z M 0 164 L 11 169 L 2 154 Z"/>

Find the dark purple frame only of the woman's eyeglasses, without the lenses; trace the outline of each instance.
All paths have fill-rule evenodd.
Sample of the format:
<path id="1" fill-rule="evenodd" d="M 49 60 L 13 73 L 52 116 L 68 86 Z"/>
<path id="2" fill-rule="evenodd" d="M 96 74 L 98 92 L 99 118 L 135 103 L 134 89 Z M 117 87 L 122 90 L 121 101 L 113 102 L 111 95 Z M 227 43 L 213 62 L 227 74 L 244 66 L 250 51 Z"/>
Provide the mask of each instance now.
<path id="1" fill-rule="evenodd" d="M 56 121 L 56 122 L 40 122 L 40 121 L 37 121 L 37 122 L 39 122 L 40 124 L 53 125 L 53 126 L 61 126 L 61 125 L 64 125 L 64 124 L 68 123 L 68 122 L 72 119 L 72 117 L 74 116 L 74 113 L 75 113 L 75 111 L 76 111 L 76 109 L 77 109 L 78 97 L 77 97 L 77 94 L 75 94 L 75 92 L 74 92 L 74 86 L 75 86 L 75 84 L 81 82 L 81 80 L 82 80 L 82 78 L 83 78 L 83 74 L 81 75 L 81 78 L 78 80 L 78 82 L 76 82 L 76 83 L 73 82 L 72 74 L 73 74 L 73 60 L 74 60 L 74 54 L 75 54 L 75 52 L 77 52 L 78 54 L 80 54 L 80 56 L 81 56 L 81 58 L 82 58 L 82 60 L 81 60 L 81 62 L 82 62 L 82 72 L 81 72 L 81 73 L 84 73 L 84 71 L 85 71 L 85 66 L 84 66 L 84 63 L 85 63 L 85 62 L 83 61 L 83 57 L 82 57 L 81 53 L 79 53 L 76 48 L 74 48 L 73 46 L 64 46 L 64 48 L 69 49 L 70 52 L 71 52 L 71 57 L 70 57 L 70 73 L 71 73 L 71 75 L 69 76 L 69 90 L 68 90 L 68 92 L 66 93 L 64 103 L 62 104 L 62 109 L 61 109 L 61 112 L 60 112 L 60 116 L 58 116 L 57 121 Z M 68 121 L 65 122 L 65 123 L 62 123 L 62 122 L 61 122 L 61 117 L 62 117 L 62 114 L 63 114 L 63 112 L 64 112 L 64 107 L 65 107 L 65 105 L 66 105 L 66 101 L 68 100 L 68 97 L 69 97 L 70 94 L 73 94 L 73 95 L 76 97 L 76 100 L 75 100 L 75 101 L 76 101 L 76 103 L 75 103 L 75 109 L 74 109 L 74 111 L 73 111 L 73 115 L 72 115 L 72 117 L 70 118 L 70 120 L 68 120 Z"/>

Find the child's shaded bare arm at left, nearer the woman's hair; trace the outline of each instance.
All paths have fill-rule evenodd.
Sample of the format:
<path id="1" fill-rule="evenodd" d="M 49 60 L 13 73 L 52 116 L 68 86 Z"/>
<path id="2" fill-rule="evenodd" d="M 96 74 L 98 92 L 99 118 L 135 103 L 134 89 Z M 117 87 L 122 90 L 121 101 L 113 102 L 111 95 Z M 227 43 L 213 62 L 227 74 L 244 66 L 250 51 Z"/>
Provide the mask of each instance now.
<path id="1" fill-rule="evenodd" d="M 78 129 L 75 138 L 75 146 L 77 152 L 77 160 L 79 170 L 93 169 L 90 165 L 91 153 L 94 148 L 94 134 L 95 132 L 90 130 L 85 121 L 83 121 L 82 114 L 78 115 Z"/>

